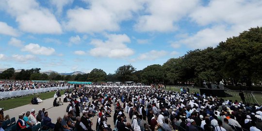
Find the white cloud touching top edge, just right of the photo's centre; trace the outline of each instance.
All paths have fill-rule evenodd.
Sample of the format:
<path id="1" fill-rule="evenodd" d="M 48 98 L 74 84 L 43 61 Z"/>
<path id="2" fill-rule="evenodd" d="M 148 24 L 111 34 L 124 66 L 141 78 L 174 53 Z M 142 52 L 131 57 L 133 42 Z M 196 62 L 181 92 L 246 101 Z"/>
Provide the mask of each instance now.
<path id="1" fill-rule="evenodd" d="M 134 28 L 140 32 L 172 32 L 176 23 L 196 7 L 199 0 L 148 0 L 146 15 L 138 18 Z"/>

